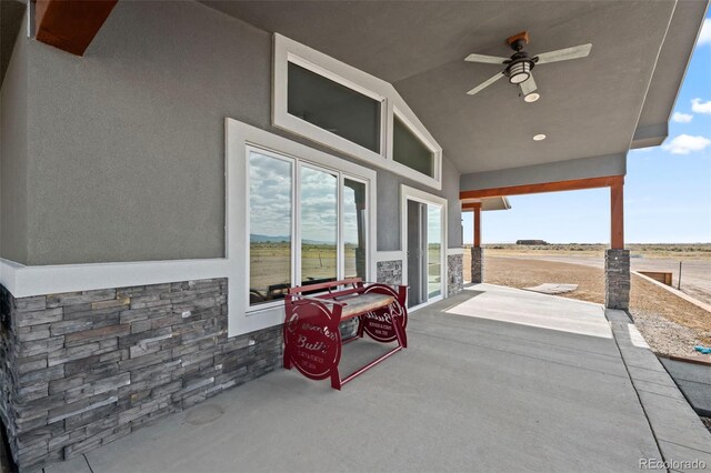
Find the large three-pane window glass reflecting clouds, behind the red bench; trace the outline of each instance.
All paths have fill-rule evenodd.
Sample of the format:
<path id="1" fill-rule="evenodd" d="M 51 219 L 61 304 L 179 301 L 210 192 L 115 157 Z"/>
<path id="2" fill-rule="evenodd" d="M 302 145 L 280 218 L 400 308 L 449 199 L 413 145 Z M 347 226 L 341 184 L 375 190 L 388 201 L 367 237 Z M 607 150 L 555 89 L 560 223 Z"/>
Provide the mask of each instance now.
<path id="1" fill-rule="evenodd" d="M 368 183 L 248 147 L 249 304 L 278 303 L 292 285 L 367 280 Z"/>

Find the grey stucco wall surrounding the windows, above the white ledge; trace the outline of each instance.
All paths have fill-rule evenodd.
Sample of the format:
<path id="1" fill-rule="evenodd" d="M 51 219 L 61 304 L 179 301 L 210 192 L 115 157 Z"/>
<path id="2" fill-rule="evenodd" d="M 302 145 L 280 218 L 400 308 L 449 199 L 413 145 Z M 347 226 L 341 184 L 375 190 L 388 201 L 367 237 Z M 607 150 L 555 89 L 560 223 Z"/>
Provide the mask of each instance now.
<path id="1" fill-rule="evenodd" d="M 33 265 L 222 256 L 224 118 L 294 139 L 270 124 L 271 34 L 197 2 L 141 1 L 119 2 L 83 58 L 18 42 L 31 80 L 31 200 L 27 252 L 3 256 Z M 448 162 L 443 171 L 458 190 L 457 171 Z M 398 250 L 393 212 L 407 181 L 384 171 L 378 181 L 378 246 Z M 450 245 L 460 233 L 450 231 Z"/>

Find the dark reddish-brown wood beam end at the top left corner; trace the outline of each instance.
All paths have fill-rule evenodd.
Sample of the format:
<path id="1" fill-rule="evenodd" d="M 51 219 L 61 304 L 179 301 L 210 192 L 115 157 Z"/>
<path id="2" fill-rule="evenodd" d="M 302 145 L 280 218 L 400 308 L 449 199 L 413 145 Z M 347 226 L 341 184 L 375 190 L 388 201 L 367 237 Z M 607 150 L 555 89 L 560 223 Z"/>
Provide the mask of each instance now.
<path id="1" fill-rule="evenodd" d="M 118 0 L 37 0 L 34 38 L 76 56 L 84 51 Z"/>

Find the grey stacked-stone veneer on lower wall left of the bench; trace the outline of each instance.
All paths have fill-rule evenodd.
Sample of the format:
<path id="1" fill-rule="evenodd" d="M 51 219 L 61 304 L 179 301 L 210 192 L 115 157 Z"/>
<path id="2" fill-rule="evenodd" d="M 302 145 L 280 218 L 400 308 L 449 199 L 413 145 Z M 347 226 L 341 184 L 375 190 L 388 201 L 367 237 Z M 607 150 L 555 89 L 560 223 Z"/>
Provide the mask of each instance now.
<path id="1" fill-rule="evenodd" d="M 227 280 L 14 299 L 0 416 L 22 471 L 69 459 L 282 362 L 281 326 L 227 336 Z"/>

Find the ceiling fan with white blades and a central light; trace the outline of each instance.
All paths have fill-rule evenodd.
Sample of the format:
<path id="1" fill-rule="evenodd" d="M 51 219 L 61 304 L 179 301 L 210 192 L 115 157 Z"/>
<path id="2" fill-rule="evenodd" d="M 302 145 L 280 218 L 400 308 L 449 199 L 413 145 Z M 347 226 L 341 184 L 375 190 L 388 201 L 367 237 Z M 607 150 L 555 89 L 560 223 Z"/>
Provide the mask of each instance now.
<path id="1" fill-rule="evenodd" d="M 529 43 L 528 31 L 520 32 L 507 38 L 507 44 L 515 52 L 511 58 L 499 58 L 485 54 L 469 54 L 464 58 L 468 62 L 482 62 L 485 64 L 505 64 L 505 69 L 497 73 L 491 79 L 480 83 L 469 92 L 470 95 L 485 89 L 502 77 L 508 77 L 509 82 L 519 85 L 523 100 L 527 102 L 535 102 L 540 99 L 540 94 L 535 92 L 535 81 L 531 71 L 535 66 L 545 64 L 548 62 L 568 61 L 569 59 L 585 58 L 590 54 L 591 43 L 574 46 L 572 48 L 559 49 L 557 51 L 544 52 L 530 57 L 523 48 Z"/>

